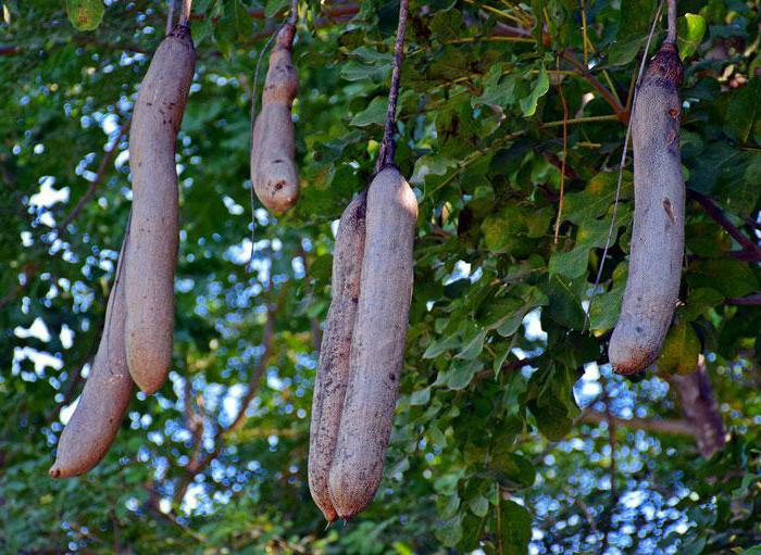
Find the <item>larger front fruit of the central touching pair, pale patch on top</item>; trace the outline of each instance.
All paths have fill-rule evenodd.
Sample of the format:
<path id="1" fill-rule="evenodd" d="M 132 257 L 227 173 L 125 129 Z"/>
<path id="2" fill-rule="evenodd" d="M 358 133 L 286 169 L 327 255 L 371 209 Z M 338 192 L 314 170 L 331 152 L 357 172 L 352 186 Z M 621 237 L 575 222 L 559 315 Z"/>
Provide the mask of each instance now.
<path id="1" fill-rule="evenodd" d="M 370 185 L 357 323 L 330 501 L 348 519 L 366 507 L 383 477 L 404 358 L 413 279 L 417 201 L 398 169 Z"/>

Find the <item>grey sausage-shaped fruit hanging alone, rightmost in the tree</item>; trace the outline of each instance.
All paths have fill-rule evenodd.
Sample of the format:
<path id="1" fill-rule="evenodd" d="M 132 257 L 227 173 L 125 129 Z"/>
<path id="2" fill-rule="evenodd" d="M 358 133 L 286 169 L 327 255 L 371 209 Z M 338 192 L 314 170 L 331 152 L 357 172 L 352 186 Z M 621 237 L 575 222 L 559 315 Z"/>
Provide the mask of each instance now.
<path id="1" fill-rule="evenodd" d="M 632 116 L 632 252 L 621 316 L 608 351 L 620 374 L 644 370 L 658 357 L 678 300 L 685 214 L 682 76 L 676 47 L 664 42 L 648 65 Z"/>

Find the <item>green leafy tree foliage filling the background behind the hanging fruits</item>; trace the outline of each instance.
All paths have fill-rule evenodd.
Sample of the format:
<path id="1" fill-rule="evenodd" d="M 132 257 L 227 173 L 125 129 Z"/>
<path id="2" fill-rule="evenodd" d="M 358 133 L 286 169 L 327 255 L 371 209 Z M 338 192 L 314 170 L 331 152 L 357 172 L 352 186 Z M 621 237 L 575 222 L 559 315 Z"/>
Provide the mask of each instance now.
<path id="1" fill-rule="evenodd" d="M 165 2 L 108 1 L 98 26 L 100 2 L 3 1 L 0 551 L 752 553 L 761 311 L 737 299 L 761 279 L 758 1 L 679 2 L 691 195 L 683 304 L 660 369 L 634 382 L 606 365 L 628 172 L 585 318 L 656 3 L 587 0 L 582 17 L 567 0 L 411 2 L 397 164 L 421 215 L 402 394 L 375 502 L 324 530 L 305 479 L 315 330 L 333 223 L 377 153 L 398 3 L 301 4 L 303 195 L 279 218 L 258 207 L 251 244 L 251 76 L 290 2 L 195 2 L 174 371 L 157 395 L 137 395 L 97 469 L 52 481 L 102 327 L 130 203 L 123 131 Z M 699 353 L 732 432 L 711 459 L 690 436 L 584 418 L 678 417 L 669 373 Z"/>

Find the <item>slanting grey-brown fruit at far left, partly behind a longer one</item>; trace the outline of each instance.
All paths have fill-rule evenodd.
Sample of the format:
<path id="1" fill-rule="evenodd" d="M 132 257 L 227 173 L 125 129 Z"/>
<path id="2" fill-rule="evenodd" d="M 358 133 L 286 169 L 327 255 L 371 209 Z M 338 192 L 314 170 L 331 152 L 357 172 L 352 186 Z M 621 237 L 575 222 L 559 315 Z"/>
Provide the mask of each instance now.
<path id="1" fill-rule="evenodd" d="M 128 234 L 127 229 L 125 244 L 128 243 Z M 53 478 L 79 476 L 100 463 L 129 405 L 133 380 L 124 346 L 124 252 L 123 245 L 114 287 L 105 307 L 103 335 L 79 402 L 59 439 L 55 462 L 49 470 Z"/>

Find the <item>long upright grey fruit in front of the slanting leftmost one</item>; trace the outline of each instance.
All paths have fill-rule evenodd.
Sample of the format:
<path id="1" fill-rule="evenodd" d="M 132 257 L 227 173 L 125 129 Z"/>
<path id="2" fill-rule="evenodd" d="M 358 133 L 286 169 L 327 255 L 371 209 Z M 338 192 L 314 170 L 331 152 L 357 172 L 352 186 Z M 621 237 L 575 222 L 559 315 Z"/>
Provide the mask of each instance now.
<path id="1" fill-rule="evenodd" d="M 174 272 L 179 241 L 175 142 L 192 81 L 190 29 L 177 25 L 161 42 L 142 79 L 129 131 L 132 238 L 125 266 L 127 364 L 146 393 L 172 365 Z"/>

